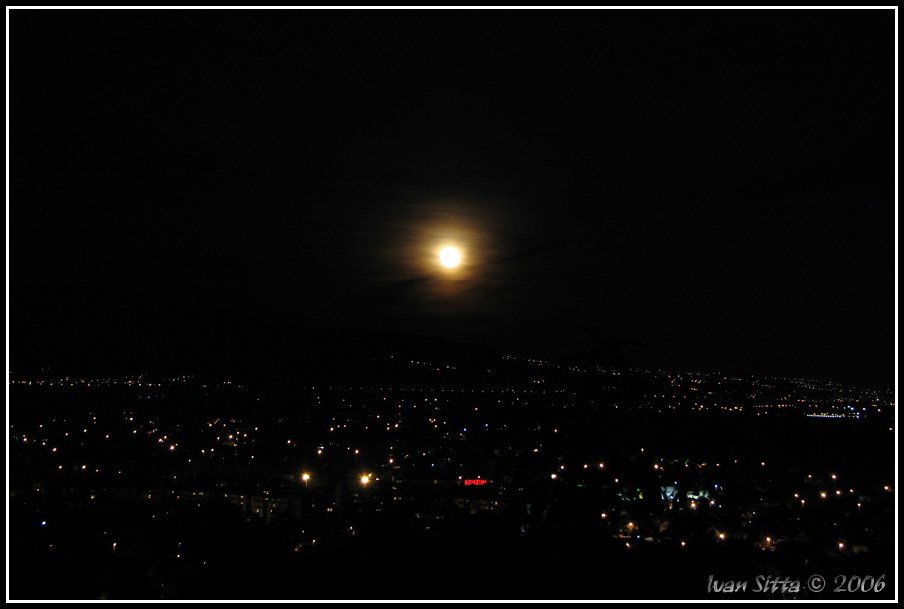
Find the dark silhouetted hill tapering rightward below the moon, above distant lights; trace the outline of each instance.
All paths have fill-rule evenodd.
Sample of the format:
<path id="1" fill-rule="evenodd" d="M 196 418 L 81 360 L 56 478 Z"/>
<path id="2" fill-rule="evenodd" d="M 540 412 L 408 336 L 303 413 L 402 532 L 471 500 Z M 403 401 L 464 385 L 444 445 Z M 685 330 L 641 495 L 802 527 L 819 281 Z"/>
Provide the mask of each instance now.
<path id="1" fill-rule="evenodd" d="M 251 376 L 337 367 L 390 355 L 495 360 L 495 351 L 442 338 L 357 327 L 304 327 L 226 308 L 201 309 L 88 289 L 31 289 L 10 311 L 10 367 L 67 374 L 146 372 Z"/>

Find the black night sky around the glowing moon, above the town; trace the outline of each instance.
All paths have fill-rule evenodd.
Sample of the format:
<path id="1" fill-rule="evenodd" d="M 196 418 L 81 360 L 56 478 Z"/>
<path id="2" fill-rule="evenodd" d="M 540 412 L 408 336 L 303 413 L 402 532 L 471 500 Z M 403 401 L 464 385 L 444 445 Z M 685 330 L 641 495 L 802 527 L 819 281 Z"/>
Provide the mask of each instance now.
<path id="1" fill-rule="evenodd" d="M 205 320 L 541 357 L 583 326 L 891 386 L 894 19 L 15 11 L 10 369 Z"/>

